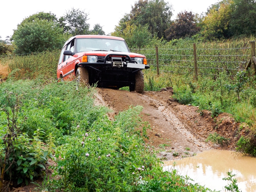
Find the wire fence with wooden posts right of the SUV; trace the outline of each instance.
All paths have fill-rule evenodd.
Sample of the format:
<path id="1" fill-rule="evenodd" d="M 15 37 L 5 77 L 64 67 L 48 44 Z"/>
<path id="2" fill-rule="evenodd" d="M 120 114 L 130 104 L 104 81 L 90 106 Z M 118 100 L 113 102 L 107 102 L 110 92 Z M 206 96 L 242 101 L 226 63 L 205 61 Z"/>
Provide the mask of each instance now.
<path id="1" fill-rule="evenodd" d="M 223 71 L 234 76 L 238 71 L 244 70 L 251 58 L 251 47 L 196 48 L 196 50 L 193 46 L 186 49 L 159 47 L 131 49 L 131 52 L 145 55 L 151 70 L 157 71 L 158 67 L 160 73 L 179 74 L 195 74 L 196 71 L 201 76 L 216 76 Z"/>

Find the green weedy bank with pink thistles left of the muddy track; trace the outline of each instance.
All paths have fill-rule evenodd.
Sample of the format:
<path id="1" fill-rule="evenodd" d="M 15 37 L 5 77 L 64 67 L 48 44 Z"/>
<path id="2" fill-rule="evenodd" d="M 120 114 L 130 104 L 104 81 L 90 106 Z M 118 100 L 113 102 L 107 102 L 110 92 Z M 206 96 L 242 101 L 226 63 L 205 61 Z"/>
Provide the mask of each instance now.
<path id="1" fill-rule="evenodd" d="M 93 105 L 93 93 L 94 88 L 76 89 L 73 81 L 8 79 L 0 84 L 1 137 L 9 129 L 7 111 L 15 108 L 15 130 L 22 130 L 17 134 L 23 139 L 14 139 L 12 148 L 25 159 L 10 154 L 15 163 L 9 179 L 24 183 L 18 179 L 22 177 L 28 183 L 42 175 L 42 190 L 47 191 L 210 191 L 188 183 L 175 171 L 163 171 L 156 152 L 143 145 L 140 130 L 148 129 L 148 124 L 140 119 L 141 106 L 110 120 L 108 108 Z M 2 141 L 1 160 L 6 150 Z M 36 153 L 23 151 L 30 144 Z M 45 154 L 42 158 L 51 157 L 56 162 L 51 168 L 54 179 L 44 177 L 43 169 L 28 173 L 25 168 L 40 153 Z M 17 164 L 21 169 L 17 170 Z M 6 172 L 7 180 L 8 175 Z"/>

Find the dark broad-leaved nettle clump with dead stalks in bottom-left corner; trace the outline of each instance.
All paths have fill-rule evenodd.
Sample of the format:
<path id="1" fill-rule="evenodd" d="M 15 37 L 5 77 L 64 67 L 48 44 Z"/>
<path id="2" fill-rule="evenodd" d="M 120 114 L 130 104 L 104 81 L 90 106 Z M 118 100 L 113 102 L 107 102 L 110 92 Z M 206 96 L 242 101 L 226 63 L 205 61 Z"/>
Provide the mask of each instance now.
<path id="1" fill-rule="evenodd" d="M 5 191 L 11 181 L 14 185 L 22 182 L 28 185 L 45 170 L 45 162 L 51 156 L 47 144 L 40 140 L 42 130 L 36 130 L 34 137 L 29 138 L 20 129 L 26 121 L 19 117 L 22 96 L 8 91 L 4 94 L 0 115 L 0 191 Z"/>

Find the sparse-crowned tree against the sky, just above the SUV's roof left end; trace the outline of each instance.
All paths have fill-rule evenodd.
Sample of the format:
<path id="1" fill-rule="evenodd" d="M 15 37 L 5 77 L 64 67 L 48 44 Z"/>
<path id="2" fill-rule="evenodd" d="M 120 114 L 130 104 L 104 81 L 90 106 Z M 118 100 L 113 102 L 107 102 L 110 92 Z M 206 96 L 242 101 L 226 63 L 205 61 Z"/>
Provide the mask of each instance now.
<path id="1" fill-rule="evenodd" d="M 69 27 L 68 32 L 73 36 L 89 34 L 90 24 L 87 23 L 88 14 L 79 9 L 72 8 L 64 15 L 64 20 Z"/>

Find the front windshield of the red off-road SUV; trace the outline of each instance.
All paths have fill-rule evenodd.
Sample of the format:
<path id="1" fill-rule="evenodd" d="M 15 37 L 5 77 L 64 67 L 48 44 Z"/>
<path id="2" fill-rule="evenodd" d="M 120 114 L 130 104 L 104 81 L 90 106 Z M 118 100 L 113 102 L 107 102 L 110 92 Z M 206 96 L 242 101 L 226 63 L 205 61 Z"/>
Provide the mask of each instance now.
<path id="1" fill-rule="evenodd" d="M 129 52 L 124 41 L 116 39 L 100 39 L 100 38 L 77 38 L 77 52 L 87 51 L 119 51 Z"/>

